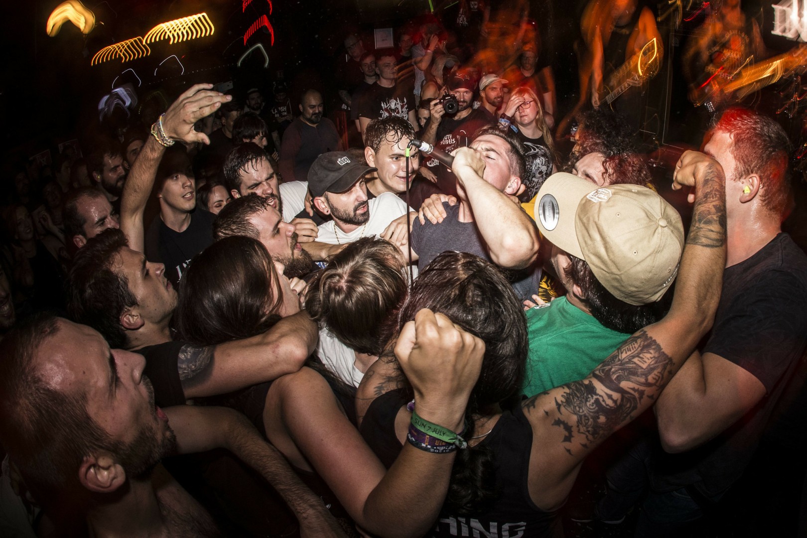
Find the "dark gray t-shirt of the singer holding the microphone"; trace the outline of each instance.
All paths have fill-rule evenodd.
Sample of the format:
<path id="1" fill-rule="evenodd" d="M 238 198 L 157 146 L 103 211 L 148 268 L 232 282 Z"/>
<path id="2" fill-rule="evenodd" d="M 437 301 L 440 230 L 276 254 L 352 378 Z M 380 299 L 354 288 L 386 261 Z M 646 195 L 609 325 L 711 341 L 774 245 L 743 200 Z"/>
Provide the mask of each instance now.
<path id="1" fill-rule="evenodd" d="M 438 254 L 445 251 L 468 252 L 491 261 L 487 244 L 476 223 L 459 222 L 459 204 L 449 206 L 448 202 L 443 202 L 443 207 L 446 213 L 443 222 L 433 224 L 427 220 L 425 224 L 420 224 L 420 220 L 416 219 L 412 226 L 412 250 L 418 256 L 418 272 L 422 272 Z M 533 294 L 538 293 L 541 267 L 537 262 L 526 269 L 500 269 L 519 300 L 531 299 Z"/>

